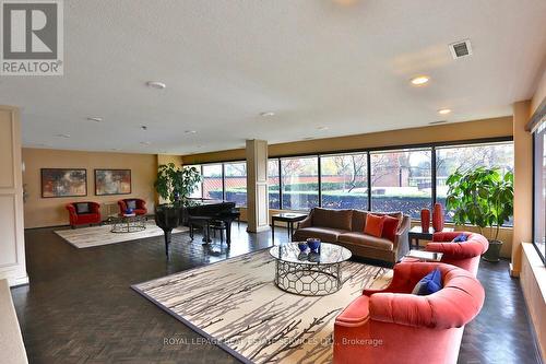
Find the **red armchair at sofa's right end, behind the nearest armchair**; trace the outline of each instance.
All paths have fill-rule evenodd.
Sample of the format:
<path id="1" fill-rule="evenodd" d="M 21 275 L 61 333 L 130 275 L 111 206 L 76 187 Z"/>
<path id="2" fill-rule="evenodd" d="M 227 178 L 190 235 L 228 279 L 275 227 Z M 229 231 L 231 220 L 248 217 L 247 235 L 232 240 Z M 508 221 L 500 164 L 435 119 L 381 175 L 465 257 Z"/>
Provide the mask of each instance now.
<path id="1" fill-rule="evenodd" d="M 456 236 L 466 235 L 466 242 L 451 243 Z M 477 233 L 446 232 L 435 233 L 432 242 L 426 250 L 443 253 L 442 262 L 466 269 L 476 277 L 479 267 L 479 257 L 489 248 L 487 238 Z"/>

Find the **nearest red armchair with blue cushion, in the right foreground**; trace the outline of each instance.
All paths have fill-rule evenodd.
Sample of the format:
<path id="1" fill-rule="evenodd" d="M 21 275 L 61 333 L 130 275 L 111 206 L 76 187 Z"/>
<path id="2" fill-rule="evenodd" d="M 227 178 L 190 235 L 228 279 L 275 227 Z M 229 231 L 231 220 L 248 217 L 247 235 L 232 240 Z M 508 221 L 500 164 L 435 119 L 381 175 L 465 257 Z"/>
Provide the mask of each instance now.
<path id="1" fill-rule="evenodd" d="M 439 268 L 443 289 L 411 294 Z M 471 272 L 443 263 L 403 262 L 384 290 L 365 290 L 335 319 L 334 363 L 456 363 L 464 325 L 485 293 Z"/>

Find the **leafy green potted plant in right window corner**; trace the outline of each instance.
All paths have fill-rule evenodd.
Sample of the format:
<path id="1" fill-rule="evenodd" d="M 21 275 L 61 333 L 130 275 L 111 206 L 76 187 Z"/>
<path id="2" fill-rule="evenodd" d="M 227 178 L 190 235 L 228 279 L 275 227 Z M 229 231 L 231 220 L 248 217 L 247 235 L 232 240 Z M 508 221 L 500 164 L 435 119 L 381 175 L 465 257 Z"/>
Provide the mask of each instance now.
<path id="1" fill-rule="evenodd" d="M 483 258 L 499 261 L 502 242 L 500 226 L 513 214 L 513 173 L 502 176 L 498 168 L 478 167 L 456 171 L 447 180 L 449 186 L 447 208 L 453 211 L 458 225 L 476 225 L 484 235 L 490 227 L 489 249 Z"/>

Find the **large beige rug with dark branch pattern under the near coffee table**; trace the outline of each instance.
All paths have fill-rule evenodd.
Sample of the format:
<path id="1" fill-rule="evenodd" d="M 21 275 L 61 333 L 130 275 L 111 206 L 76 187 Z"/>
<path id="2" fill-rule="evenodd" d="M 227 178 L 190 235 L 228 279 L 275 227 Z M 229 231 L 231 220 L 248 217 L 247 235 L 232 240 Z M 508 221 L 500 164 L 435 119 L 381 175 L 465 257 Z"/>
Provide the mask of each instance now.
<path id="1" fill-rule="evenodd" d="M 347 261 L 343 287 L 327 296 L 285 293 L 269 249 L 187 270 L 133 290 L 246 363 L 331 363 L 337 314 L 392 270 Z M 199 349 L 198 349 L 199 350 Z"/>

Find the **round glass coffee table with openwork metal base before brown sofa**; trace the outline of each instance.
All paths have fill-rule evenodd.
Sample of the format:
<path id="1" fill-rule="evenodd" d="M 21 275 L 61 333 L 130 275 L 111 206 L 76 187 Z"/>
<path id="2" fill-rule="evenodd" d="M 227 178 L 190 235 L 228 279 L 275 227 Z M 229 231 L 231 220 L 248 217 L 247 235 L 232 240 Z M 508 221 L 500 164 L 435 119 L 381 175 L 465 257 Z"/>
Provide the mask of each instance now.
<path id="1" fill-rule="evenodd" d="M 321 243 L 319 253 L 301 253 L 298 243 L 276 245 L 270 249 L 275 258 L 275 285 L 288 293 L 322 296 L 343 286 L 341 266 L 352 256 L 342 246 Z"/>

